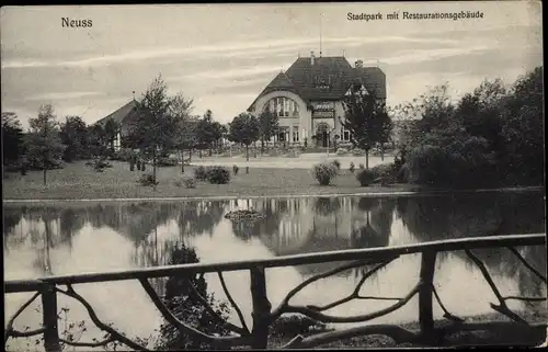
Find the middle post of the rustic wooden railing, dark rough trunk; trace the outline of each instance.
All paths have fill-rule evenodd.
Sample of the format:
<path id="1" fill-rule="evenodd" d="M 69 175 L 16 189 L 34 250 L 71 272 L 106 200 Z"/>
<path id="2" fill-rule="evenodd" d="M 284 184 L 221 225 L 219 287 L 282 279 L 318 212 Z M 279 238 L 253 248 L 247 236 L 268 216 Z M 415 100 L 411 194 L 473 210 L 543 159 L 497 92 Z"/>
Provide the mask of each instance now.
<path id="1" fill-rule="evenodd" d="M 266 277 L 264 268 L 250 269 L 251 274 L 251 298 L 253 303 L 253 334 L 252 348 L 264 350 L 269 343 L 270 314 L 272 305 L 266 295 Z"/>

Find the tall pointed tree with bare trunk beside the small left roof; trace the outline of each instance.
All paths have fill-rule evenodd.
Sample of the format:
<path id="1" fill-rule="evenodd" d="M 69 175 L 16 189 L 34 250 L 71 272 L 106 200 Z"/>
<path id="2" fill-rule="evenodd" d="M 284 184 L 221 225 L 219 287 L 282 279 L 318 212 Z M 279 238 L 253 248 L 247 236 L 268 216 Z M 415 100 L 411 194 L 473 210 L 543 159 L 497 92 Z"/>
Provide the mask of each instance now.
<path id="1" fill-rule="evenodd" d="M 159 75 L 142 94 L 137 104 L 137 117 L 133 122 L 133 140 L 152 157 L 152 182 L 156 184 L 158 152 L 164 152 L 174 146 L 176 120 L 170 113 L 171 100 L 168 86 Z"/>

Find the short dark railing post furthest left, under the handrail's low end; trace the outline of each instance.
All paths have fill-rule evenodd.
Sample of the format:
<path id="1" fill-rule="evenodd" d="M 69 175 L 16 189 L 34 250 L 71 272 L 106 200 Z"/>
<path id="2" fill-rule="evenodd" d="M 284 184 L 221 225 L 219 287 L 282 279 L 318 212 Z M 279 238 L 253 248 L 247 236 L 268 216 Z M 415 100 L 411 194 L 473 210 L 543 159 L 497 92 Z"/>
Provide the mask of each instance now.
<path id="1" fill-rule="evenodd" d="M 55 286 L 49 284 L 42 287 L 42 316 L 46 329 L 44 331 L 44 348 L 47 352 L 60 352 L 57 329 L 57 294 Z"/>

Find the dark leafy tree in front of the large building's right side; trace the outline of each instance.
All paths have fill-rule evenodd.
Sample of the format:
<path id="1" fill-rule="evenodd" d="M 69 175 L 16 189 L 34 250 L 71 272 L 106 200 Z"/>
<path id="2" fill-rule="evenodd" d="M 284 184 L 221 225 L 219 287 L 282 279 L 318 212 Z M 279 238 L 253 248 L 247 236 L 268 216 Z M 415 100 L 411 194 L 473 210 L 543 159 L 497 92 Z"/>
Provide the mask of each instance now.
<path id="1" fill-rule="evenodd" d="M 392 125 L 384 99 L 375 92 L 353 87 L 343 101 L 344 120 L 341 125 L 350 130 L 354 147 L 365 150 L 365 167 L 369 168 L 369 150 L 377 143 L 387 141 Z"/>

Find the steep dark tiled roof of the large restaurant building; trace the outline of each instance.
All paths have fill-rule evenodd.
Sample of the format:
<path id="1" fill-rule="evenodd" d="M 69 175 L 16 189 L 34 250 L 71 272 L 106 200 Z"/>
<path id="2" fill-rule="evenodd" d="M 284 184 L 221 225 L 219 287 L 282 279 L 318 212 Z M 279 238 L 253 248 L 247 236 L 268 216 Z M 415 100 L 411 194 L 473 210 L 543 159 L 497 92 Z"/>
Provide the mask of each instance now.
<path id="1" fill-rule="evenodd" d="M 352 67 L 343 56 L 316 57 L 313 64 L 310 57 L 300 57 L 285 73 L 278 73 L 259 96 L 273 90 L 289 90 L 305 101 L 340 100 L 354 83 L 364 84 L 378 98 L 386 98 L 386 76 L 380 68 Z"/>

